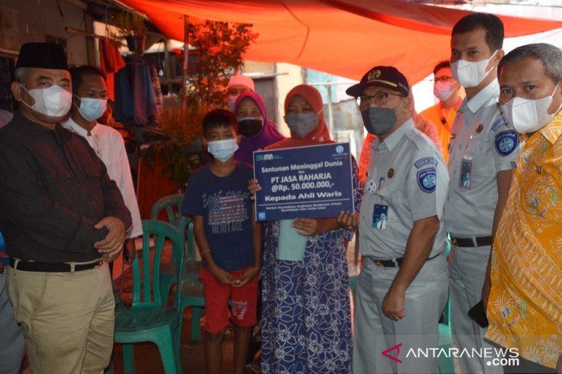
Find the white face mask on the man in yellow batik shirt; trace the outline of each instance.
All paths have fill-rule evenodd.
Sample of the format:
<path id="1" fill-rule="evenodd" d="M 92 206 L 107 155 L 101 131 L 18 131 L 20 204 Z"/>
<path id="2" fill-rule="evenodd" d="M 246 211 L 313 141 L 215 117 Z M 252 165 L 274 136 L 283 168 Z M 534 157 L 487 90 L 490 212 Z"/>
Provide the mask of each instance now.
<path id="1" fill-rule="evenodd" d="M 562 107 L 561 105 L 553 114 L 548 114 L 548 109 L 551 105 L 552 97 L 558 89 L 558 84 L 556 88 L 554 88 L 552 95 L 545 98 L 529 100 L 516 96 L 504 105 L 501 105 L 505 119 L 507 119 L 519 133 L 534 133 L 540 130 L 542 126 L 554 119 L 554 116 L 556 116 L 556 113 L 558 113 L 558 110 Z"/>

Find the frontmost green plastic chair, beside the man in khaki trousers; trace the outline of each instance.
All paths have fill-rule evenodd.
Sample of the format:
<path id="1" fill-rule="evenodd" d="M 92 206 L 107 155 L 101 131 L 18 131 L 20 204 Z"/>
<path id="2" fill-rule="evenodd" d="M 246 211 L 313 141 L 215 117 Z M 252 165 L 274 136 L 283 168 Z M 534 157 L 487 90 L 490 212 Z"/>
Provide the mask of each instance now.
<path id="1" fill-rule="evenodd" d="M 133 304 L 115 312 L 115 342 L 123 344 L 124 373 L 135 373 L 133 344 L 153 342 L 158 346 L 166 374 L 181 373 L 180 339 L 183 314 L 181 293 L 176 293 L 173 307 L 163 307 L 160 293 L 160 260 L 165 241 L 171 241 L 176 274 L 184 266 L 183 236 L 167 222 L 143 220 L 142 281 L 138 258 L 133 260 Z M 150 239 L 154 240 L 154 250 Z M 152 257 L 153 255 L 153 257 Z M 152 264 L 152 275 L 150 267 Z M 180 282 L 180 275 L 176 282 Z"/>

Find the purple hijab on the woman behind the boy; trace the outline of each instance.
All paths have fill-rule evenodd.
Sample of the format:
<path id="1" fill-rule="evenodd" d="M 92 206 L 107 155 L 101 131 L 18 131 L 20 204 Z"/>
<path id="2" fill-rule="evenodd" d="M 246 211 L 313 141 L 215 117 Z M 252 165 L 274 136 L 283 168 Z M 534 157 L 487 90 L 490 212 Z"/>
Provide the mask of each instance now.
<path id="1" fill-rule="evenodd" d="M 241 93 L 234 103 L 234 113 L 237 112 L 240 102 L 242 102 L 245 98 L 251 98 L 254 102 L 256 102 L 256 105 L 263 116 L 263 123 L 261 123 L 262 127 L 258 135 L 252 136 L 251 138 L 247 138 L 242 135 L 242 142 L 240 142 L 240 147 L 234 154 L 234 159 L 252 165 L 254 163 L 254 151 L 263 149 L 268 145 L 272 145 L 273 143 L 283 140 L 285 139 L 285 136 L 278 133 L 275 129 L 275 123 L 268 120 L 266 102 L 263 101 L 263 98 L 259 95 L 259 93 L 255 93 L 254 91 L 244 91 Z"/>

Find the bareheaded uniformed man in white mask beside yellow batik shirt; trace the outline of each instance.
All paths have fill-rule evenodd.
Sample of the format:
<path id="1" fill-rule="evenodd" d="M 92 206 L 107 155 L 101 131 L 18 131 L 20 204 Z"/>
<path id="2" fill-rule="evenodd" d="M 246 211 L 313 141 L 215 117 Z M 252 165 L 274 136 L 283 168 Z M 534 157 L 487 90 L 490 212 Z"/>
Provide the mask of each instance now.
<path id="1" fill-rule="evenodd" d="M 467 15 L 452 29 L 451 70 L 464 86 L 466 98 L 451 131 L 445 225 L 452 239 L 452 330 L 456 347 L 469 352 L 492 349 L 483 340 L 485 329 L 467 313 L 487 292 L 483 283 L 492 235 L 518 153 L 518 134 L 497 105 L 503 38 L 502 21 L 491 14 Z M 463 355 L 459 358 L 462 373 L 502 373 L 501 366 L 487 365 L 490 359 Z"/>

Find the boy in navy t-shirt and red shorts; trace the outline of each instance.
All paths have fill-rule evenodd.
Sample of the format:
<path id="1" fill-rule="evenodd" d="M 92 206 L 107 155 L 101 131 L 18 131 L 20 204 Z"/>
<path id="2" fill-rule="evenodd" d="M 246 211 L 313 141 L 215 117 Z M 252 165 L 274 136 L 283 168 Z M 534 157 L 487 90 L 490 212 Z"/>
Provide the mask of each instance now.
<path id="1" fill-rule="evenodd" d="M 203 269 L 205 368 L 221 373 L 222 343 L 228 326 L 228 299 L 234 323 L 234 373 L 242 374 L 256 324 L 261 225 L 254 218 L 248 180 L 251 166 L 234 160 L 240 135 L 233 113 L 216 109 L 203 119 L 203 145 L 214 160 L 194 171 L 185 189 L 182 213 L 193 218 Z"/>

